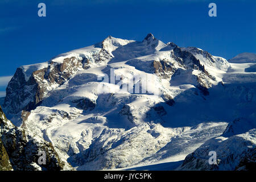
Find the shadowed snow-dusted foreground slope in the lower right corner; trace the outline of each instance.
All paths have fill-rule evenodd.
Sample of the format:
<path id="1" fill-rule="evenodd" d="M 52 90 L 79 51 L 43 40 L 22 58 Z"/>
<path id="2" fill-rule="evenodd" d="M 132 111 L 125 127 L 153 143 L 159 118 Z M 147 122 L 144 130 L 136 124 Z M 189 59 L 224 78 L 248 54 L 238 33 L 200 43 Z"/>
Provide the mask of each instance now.
<path id="1" fill-rule="evenodd" d="M 236 119 L 230 127 L 239 125 L 245 127 L 247 124 L 243 120 Z M 226 130 L 226 131 L 227 131 Z M 192 154 L 189 154 L 183 164 L 177 170 L 247 170 L 255 171 L 256 163 L 256 129 L 255 123 L 253 129 L 246 130 L 244 133 L 226 136 L 226 131 L 219 137 L 205 142 L 197 148 Z M 233 132 L 232 132 L 233 133 Z M 217 164 L 209 165 L 209 151 L 216 151 Z"/>

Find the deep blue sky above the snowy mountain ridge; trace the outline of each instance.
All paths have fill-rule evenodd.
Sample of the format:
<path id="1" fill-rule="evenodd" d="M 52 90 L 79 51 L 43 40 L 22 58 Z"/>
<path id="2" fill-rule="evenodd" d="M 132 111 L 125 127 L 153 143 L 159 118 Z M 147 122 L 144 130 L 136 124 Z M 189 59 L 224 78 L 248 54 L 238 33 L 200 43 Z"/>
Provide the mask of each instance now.
<path id="1" fill-rule="evenodd" d="M 46 3 L 46 17 L 38 3 Z M 217 17 L 208 5 L 217 5 Z M 101 42 L 108 35 L 195 46 L 230 59 L 256 53 L 256 1 L 0 1 L 0 96 L 20 65 Z M 8 80 L 8 79 L 7 79 Z"/>

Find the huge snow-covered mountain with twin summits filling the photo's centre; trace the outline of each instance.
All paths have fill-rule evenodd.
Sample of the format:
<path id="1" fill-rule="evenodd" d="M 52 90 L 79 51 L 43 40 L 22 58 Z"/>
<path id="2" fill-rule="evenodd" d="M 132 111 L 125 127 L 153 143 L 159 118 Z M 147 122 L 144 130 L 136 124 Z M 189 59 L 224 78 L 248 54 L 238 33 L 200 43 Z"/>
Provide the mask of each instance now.
<path id="1" fill-rule="evenodd" d="M 4 119 L 9 127 L 1 126 L 3 146 L 14 169 L 22 168 L 16 163 L 24 169 L 52 168 L 13 155 L 9 130 L 23 134 L 19 152 L 51 151 L 54 169 L 184 160 L 228 132 L 227 126 L 232 132 L 228 123 L 235 119 L 255 122 L 256 74 L 246 71 L 253 65 L 163 43 L 152 34 L 141 42 L 109 36 L 16 70 L 3 104 L 12 122 Z"/>

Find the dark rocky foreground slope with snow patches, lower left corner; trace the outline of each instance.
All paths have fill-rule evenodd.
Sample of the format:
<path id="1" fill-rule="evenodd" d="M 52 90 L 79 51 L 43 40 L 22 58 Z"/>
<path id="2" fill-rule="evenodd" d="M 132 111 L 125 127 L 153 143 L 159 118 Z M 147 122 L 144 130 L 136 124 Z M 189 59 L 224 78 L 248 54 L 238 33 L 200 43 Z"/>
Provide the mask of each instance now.
<path id="1" fill-rule="evenodd" d="M 72 169 L 59 159 L 52 144 L 44 139 L 34 139 L 26 129 L 14 126 L 6 119 L 0 107 L 0 160 L 3 169 L 51 170 Z M 46 152 L 46 164 L 39 164 L 39 151 Z M 10 159 L 11 165 L 8 163 Z"/>

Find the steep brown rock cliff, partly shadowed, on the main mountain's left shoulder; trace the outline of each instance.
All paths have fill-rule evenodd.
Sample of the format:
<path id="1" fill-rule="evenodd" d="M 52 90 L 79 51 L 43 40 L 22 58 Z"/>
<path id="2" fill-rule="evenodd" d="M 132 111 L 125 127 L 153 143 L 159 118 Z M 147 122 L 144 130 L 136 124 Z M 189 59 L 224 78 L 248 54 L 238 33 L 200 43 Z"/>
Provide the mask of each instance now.
<path id="1" fill-rule="evenodd" d="M 25 80 L 22 68 L 18 68 L 7 86 L 3 106 L 8 108 L 10 114 L 35 109 L 54 85 L 64 84 L 83 67 L 83 62 L 84 59 L 76 57 L 65 58 L 61 64 L 51 61 L 47 68 L 34 71 L 28 81 Z"/>

